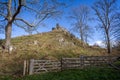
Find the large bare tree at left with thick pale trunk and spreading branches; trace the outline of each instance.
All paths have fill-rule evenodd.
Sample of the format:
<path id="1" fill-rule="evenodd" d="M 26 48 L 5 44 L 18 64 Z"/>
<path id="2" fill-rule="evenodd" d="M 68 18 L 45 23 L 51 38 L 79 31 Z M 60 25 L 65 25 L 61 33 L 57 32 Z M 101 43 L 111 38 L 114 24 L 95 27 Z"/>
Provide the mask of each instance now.
<path id="1" fill-rule="evenodd" d="M 5 49 L 10 47 L 13 25 L 37 27 L 43 20 L 59 13 L 61 5 L 65 4 L 57 0 L 1 0 L 0 20 L 4 24 L 0 25 L 5 28 Z"/>

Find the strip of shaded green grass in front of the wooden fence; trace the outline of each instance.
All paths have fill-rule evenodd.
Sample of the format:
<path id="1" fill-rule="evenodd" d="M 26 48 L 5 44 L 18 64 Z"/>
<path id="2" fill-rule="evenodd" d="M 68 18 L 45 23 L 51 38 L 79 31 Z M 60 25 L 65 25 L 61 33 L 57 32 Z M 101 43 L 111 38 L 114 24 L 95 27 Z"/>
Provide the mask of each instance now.
<path id="1" fill-rule="evenodd" d="M 21 78 L 11 76 L 1 77 L 0 80 L 120 80 L 120 71 L 113 69 L 89 68 L 83 70 L 65 70 L 28 75 Z"/>

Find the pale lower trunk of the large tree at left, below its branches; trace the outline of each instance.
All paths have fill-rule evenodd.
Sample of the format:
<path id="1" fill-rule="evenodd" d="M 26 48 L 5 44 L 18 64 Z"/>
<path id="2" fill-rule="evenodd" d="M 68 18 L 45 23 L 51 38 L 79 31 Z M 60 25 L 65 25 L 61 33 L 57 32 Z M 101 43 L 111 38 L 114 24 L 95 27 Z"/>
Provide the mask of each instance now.
<path id="1" fill-rule="evenodd" d="M 12 31 L 12 23 L 8 23 L 5 27 L 5 50 L 9 52 L 9 47 L 11 43 L 11 31 Z"/>

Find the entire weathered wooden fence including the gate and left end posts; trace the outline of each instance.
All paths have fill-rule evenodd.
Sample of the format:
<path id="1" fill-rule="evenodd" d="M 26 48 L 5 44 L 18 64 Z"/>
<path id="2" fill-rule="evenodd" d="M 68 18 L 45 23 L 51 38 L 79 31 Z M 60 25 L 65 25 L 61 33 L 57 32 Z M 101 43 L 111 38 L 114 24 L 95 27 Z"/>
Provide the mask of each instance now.
<path id="1" fill-rule="evenodd" d="M 103 67 L 103 65 L 108 65 L 117 58 L 117 56 L 80 56 L 79 58 L 61 58 L 60 61 L 31 59 L 29 62 L 24 62 L 23 75 L 65 69 L 81 69 L 88 66 Z"/>

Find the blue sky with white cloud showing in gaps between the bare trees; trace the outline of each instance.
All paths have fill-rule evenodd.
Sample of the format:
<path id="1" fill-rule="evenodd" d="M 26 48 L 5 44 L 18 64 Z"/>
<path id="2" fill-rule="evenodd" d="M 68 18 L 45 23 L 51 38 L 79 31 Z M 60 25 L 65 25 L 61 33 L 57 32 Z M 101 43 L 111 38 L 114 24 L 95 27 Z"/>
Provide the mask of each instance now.
<path id="1" fill-rule="evenodd" d="M 70 4 L 70 6 L 68 8 L 64 9 L 64 15 L 62 15 L 62 17 L 60 19 L 47 19 L 44 21 L 44 23 L 46 24 L 46 26 L 43 27 L 43 25 L 40 25 L 38 28 L 38 32 L 48 32 L 51 31 L 52 27 L 55 27 L 56 23 L 59 23 L 60 26 L 65 27 L 67 30 L 70 30 L 71 28 L 71 23 L 70 20 L 67 18 L 67 15 L 69 14 L 70 10 L 74 7 L 77 7 L 79 5 L 88 5 L 88 6 L 92 6 L 92 4 L 97 1 L 97 0 L 73 0 L 74 2 L 70 3 L 67 2 L 68 4 Z M 92 27 L 96 26 L 95 22 L 92 22 L 90 24 Z M 23 29 L 16 27 L 13 25 L 13 29 L 12 29 L 12 37 L 17 37 L 17 36 L 22 36 L 22 35 L 27 35 L 28 33 L 26 33 Z M 79 36 L 78 34 L 75 34 L 77 37 Z M 93 39 L 91 39 L 89 41 L 89 44 L 94 44 L 95 42 L 99 42 L 102 41 L 102 37 L 100 32 L 95 31 L 95 33 L 92 35 Z M 0 34 L 0 38 L 4 39 L 4 34 Z"/>

